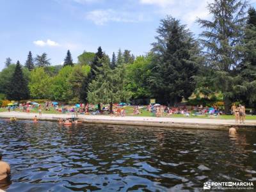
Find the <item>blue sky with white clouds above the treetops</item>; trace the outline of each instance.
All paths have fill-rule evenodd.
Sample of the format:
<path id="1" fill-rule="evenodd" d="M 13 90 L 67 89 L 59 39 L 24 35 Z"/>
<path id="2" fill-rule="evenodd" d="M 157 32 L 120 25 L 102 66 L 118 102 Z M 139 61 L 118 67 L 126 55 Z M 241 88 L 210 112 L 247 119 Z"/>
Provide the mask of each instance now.
<path id="1" fill-rule="evenodd" d="M 161 19 L 172 15 L 198 35 L 195 20 L 211 19 L 213 0 L 0 0 L 0 70 L 10 57 L 24 64 L 46 52 L 60 65 L 69 49 L 74 62 L 83 51 L 99 46 L 109 54 L 118 49 L 139 56 L 151 49 Z M 250 1 L 255 7 L 256 0 Z"/>

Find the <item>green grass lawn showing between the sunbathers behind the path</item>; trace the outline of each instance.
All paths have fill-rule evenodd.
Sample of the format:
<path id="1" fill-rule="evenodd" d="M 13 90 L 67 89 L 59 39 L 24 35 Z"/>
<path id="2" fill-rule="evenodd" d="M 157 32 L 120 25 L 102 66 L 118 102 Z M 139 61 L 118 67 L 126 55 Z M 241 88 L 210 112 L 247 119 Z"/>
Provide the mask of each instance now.
<path id="1" fill-rule="evenodd" d="M 140 115 L 133 115 L 133 106 L 126 106 L 125 111 L 127 116 L 154 116 L 153 113 L 148 112 L 146 109 L 140 109 L 141 114 Z M 8 111 L 6 108 L 0 108 L 0 112 Z M 15 111 L 20 111 L 20 109 L 15 109 Z M 21 112 L 21 111 L 20 111 Z M 38 108 L 34 108 L 30 110 L 31 113 L 38 113 Z M 56 111 L 54 108 L 50 108 L 50 111 L 45 111 L 44 108 L 42 108 L 42 113 L 47 113 L 47 114 L 61 114 L 60 112 Z M 104 115 L 108 115 L 105 113 Z M 169 118 L 207 118 L 207 119 L 212 119 L 214 117 L 209 117 L 206 115 L 202 116 L 184 116 L 182 114 L 173 114 L 170 116 L 166 116 L 166 113 L 164 114 L 164 117 L 169 117 Z M 234 120 L 233 115 L 220 115 L 219 117 L 216 117 L 216 119 L 232 119 Z M 214 118 L 215 119 L 215 118 Z M 246 115 L 246 120 L 256 120 L 256 115 Z"/>

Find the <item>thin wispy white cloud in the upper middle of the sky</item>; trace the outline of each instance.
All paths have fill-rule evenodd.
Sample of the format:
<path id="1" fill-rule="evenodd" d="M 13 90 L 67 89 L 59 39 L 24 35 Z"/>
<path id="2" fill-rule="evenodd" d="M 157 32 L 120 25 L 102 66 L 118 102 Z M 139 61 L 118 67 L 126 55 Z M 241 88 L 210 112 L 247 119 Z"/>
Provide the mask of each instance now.
<path id="1" fill-rule="evenodd" d="M 93 10 L 86 13 L 86 19 L 92 20 L 97 25 L 104 25 L 107 22 L 138 22 L 143 20 L 143 15 L 128 12 L 116 12 L 115 10 Z"/>

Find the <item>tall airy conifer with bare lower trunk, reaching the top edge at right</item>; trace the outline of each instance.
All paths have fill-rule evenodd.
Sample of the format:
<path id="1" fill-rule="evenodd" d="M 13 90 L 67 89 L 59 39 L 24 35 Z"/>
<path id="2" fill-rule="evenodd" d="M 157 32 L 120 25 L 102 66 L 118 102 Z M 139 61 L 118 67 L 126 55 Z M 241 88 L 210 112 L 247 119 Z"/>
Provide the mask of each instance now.
<path id="1" fill-rule="evenodd" d="M 216 87 L 224 97 L 225 113 L 230 112 L 237 82 L 236 69 L 241 62 L 240 49 L 243 26 L 246 22 L 244 10 L 246 1 L 214 0 L 208 5 L 212 20 L 198 19 L 205 31 L 201 33 L 201 42 L 205 47 L 205 58 L 209 67 L 216 71 Z"/>

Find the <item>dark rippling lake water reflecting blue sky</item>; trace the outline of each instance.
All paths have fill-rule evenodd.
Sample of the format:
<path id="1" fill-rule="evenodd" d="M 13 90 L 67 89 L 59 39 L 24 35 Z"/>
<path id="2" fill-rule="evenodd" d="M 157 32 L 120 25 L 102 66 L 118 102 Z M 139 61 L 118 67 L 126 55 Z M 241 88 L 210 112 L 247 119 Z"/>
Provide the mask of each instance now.
<path id="1" fill-rule="evenodd" d="M 0 120 L 0 150 L 12 167 L 7 191 L 202 191 L 209 180 L 256 180 L 255 131 Z"/>

